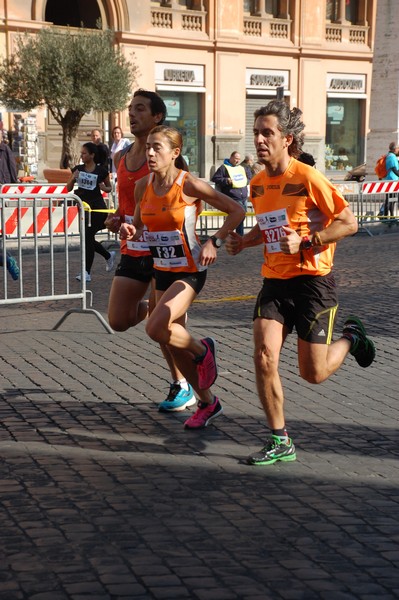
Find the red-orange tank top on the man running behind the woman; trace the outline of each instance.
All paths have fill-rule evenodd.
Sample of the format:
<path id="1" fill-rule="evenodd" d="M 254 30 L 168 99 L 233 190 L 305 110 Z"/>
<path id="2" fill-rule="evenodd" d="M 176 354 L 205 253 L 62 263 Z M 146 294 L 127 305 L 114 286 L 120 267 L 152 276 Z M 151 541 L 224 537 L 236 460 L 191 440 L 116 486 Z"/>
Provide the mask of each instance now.
<path id="1" fill-rule="evenodd" d="M 130 146 L 129 146 L 130 147 Z M 147 161 L 137 171 L 129 171 L 126 167 L 126 154 L 118 164 L 118 208 L 122 223 L 132 223 L 136 202 L 134 200 L 134 188 L 136 181 L 148 175 Z M 150 253 L 148 245 L 142 240 L 136 242 L 121 240 L 121 254 L 129 256 L 148 256 Z"/>

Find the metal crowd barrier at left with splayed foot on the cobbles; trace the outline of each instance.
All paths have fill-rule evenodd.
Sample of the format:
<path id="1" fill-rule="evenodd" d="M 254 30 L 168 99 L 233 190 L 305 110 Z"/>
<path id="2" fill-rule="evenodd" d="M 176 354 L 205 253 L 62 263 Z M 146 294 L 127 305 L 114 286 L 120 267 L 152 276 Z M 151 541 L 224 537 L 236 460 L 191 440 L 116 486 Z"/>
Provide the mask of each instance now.
<path id="1" fill-rule="evenodd" d="M 0 259 L 3 270 L 3 293 L 0 306 L 29 302 L 74 300 L 80 308 L 68 310 L 53 329 L 72 313 L 94 314 L 109 333 L 113 333 L 103 316 L 87 308 L 85 277 L 78 284 L 71 274 L 71 239 L 79 236 L 81 273 L 85 273 L 85 217 L 81 200 L 74 194 L 34 195 L 31 188 L 19 194 L 0 194 Z M 26 267 L 27 255 L 33 256 L 33 269 Z M 7 256 L 19 266 L 19 277 L 12 287 L 8 282 Z M 29 263 L 31 260 L 29 261 Z M 74 286 L 71 286 L 71 280 Z M 78 286 L 79 289 L 76 290 Z"/>

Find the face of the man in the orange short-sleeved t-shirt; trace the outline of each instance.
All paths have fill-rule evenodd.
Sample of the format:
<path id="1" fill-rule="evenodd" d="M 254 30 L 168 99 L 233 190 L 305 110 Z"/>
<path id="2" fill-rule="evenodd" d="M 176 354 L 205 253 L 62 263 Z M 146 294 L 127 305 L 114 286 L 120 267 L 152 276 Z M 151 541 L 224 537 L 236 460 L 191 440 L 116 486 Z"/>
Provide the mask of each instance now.
<path id="1" fill-rule="evenodd" d="M 258 117 L 254 124 L 254 143 L 262 164 L 278 163 L 288 155 L 291 136 L 283 136 L 275 115 Z"/>

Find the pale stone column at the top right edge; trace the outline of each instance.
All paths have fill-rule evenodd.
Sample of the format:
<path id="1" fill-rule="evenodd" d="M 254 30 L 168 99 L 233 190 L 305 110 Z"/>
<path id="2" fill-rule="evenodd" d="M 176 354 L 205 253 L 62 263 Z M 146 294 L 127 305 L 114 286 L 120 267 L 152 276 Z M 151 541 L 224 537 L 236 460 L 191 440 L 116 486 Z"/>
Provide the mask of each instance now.
<path id="1" fill-rule="evenodd" d="M 399 141 L 399 19 L 391 0 L 378 0 L 367 136 L 367 179 L 377 159 Z"/>

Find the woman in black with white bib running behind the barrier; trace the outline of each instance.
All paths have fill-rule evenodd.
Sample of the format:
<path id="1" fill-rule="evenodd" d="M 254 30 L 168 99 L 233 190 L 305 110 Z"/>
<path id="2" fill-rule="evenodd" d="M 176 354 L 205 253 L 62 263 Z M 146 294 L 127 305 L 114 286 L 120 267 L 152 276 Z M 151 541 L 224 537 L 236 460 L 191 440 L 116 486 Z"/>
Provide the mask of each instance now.
<path id="1" fill-rule="evenodd" d="M 104 154 L 101 146 L 93 142 L 83 144 L 80 157 L 83 164 L 76 165 L 72 169 L 72 175 L 66 185 L 68 192 L 78 186 L 76 195 L 86 202 L 90 212 L 85 210 L 85 255 L 86 255 L 86 282 L 91 281 L 91 267 L 94 254 L 97 252 L 105 259 L 105 270 L 112 271 L 114 268 L 115 252 L 108 252 L 104 246 L 96 240 L 96 233 L 105 228 L 106 209 L 105 200 L 101 192 L 111 191 L 108 169 L 103 166 Z M 98 211 L 98 212 L 97 212 Z M 80 281 L 82 273 L 76 276 Z"/>

